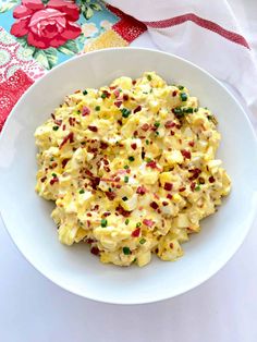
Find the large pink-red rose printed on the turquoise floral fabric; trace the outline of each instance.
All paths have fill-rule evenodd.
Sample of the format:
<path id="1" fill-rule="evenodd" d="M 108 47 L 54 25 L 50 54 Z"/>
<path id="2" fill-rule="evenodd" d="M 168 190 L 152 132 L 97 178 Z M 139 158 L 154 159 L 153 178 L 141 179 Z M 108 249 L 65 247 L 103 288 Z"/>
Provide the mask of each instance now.
<path id="1" fill-rule="evenodd" d="M 11 34 L 27 36 L 28 45 L 39 49 L 58 48 L 81 34 L 81 27 L 75 23 L 79 8 L 71 1 L 50 0 L 45 5 L 40 0 L 23 0 L 13 17 L 16 22 Z"/>

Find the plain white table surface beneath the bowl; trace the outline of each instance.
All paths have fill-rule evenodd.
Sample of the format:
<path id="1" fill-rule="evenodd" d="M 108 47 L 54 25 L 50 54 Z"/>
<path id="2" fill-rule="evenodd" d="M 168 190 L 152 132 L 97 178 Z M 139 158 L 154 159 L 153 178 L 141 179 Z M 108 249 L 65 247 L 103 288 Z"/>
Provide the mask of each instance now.
<path id="1" fill-rule="evenodd" d="M 255 0 L 230 2 L 256 49 Z M 133 46 L 152 44 L 146 33 Z M 118 306 L 81 298 L 44 278 L 0 221 L 0 341 L 256 342 L 256 241 L 257 220 L 235 256 L 203 285 L 155 304 Z"/>

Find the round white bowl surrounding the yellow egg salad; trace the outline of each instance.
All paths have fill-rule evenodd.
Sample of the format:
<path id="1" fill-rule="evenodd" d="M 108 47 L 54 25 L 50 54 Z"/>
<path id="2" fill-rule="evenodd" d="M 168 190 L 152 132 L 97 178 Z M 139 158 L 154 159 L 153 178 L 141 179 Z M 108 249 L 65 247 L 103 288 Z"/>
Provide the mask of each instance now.
<path id="1" fill-rule="evenodd" d="M 34 131 L 63 97 L 99 87 L 121 75 L 156 71 L 183 84 L 219 120 L 222 142 L 218 157 L 232 178 L 233 190 L 203 230 L 183 245 L 175 262 L 154 258 L 144 267 L 102 265 L 84 244 L 59 243 L 50 218 L 53 205 L 34 192 Z M 175 56 L 148 49 L 107 49 L 74 58 L 49 72 L 22 97 L 0 141 L 0 208 L 5 227 L 28 261 L 60 286 L 87 298 L 139 304 L 182 294 L 213 276 L 240 247 L 257 207 L 257 145 L 242 107 L 212 76 Z M 15 272 L 15 270 L 13 270 Z"/>

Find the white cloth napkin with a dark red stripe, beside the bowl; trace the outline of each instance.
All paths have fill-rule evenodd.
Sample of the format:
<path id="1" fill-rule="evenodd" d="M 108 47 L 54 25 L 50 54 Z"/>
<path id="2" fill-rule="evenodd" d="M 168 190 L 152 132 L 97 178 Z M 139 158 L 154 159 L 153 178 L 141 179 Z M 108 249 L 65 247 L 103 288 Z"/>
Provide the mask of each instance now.
<path id="1" fill-rule="evenodd" d="M 159 49 L 234 86 L 257 113 L 257 65 L 227 0 L 108 0 L 144 22 Z"/>

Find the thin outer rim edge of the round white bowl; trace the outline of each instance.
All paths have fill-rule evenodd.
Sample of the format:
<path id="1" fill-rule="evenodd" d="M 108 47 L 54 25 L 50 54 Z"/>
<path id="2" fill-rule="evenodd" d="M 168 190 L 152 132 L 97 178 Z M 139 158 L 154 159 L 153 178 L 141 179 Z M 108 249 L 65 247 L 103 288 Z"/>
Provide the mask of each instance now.
<path id="1" fill-rule="evenodd" d="M 235 102 L 235 105 L 241 109 L 242 113 L 244 114 L 244 119 L 246 120 L 246 123 L 247 123 L 247 126 L 249 129 L 249 132 L 252 134 L 252 137 L 253 137 L 253 141 L 254 141 L 254 144 L 255 144 L 255 150 L 257 150 L 257 135 L 255 133 L 255 130 L 252 125 L 252 122 L 248 118 L 248 115 L 246 114 L 243 106 L 240 103 L 240 101 L 235 98 L 235 96 L 219 81 L 217 80 L 215 76 L 212 76 L 209 72 L 207 72 L 206 70 L 204 70 L 203 68 L 196 65 L 195 63 L 184 59 L 184 58 L 181 58 L 176 54 L 173 54 L 173 53 L 169 53 L 169 52 L 164 52 L 164 51 L 160 51 L 160 50 L 157 50 L 157 49 L 151 49 L 151 48 L 140 48 L 140 47 L 121 47 L 121 48 L 107 48 L 107 49 L 102 49 L 102 50 L 96 50 L 96 51 L 90 51 L 90 52 L 87 52 L 87 53 L 84 53 L 84 54 L 81 54 L 81 56 L 76 56 L 76 57 L 73 57 L 66 61 L 64 61 L 63 63 L 54 66 L 51 71 L 47 72 L 45 75 L 42 75 L 40 78 L 36 80 L 36 82 L 28 88 L 25 90 L 25 93 L 21 96 L 21 98 L 19 99 L 19 101 L 15 103 L 15 106 L 13 107 L 12 111 L 10 112 L 10 114 L 8 115 L 8 119 L 3 125 L 3 129 L 2 129 L 2 132 L 0 134 L 0 146 L 1 146 L 1 142 L 3 139 L 3 136 L 4 134 L 7 134 L 5 132 L 8 132 L 8 127 L 10 125 L 10 122 L 12 121 L 12 117 L 13 117 L 13 113 L 15 112 L 16 108 L 19 106 L 21 106 L 23 103 L 23 101 L 26 100 L 26 98 L 29 96 L 29 93 L 33 91 L 34 87 L 37 87 L 38 84 L 40 84 L 40 82 L 42 82 L 42 80 L 45 80 L 46 77 L 51 77 L 51 74 L 54 73 L 56 70 L 59 70 L 61 68 L 65 68 L 66 64 L 69 63 L 74 63 L 76 60 L 81 60 L 81 59 L 84 59 L 86 58 L 88 54 L 101 54 L 101 53 L 106 53 L 107 51 L 110 51 L 110 52 L 113 52 L 115 53 L 117 50 L 124 50 L 124 51 L 127 51 L 127 50 L 139 50 L 139 51 L 146 51 L 146 52 L 149 52 L 149 53 L 160 53 L 160 54 L 164 54 L 167 57 L 171 57 L 173 59 L 178 59 L 186 64 L 189 64 L 192 68 L 194 69 L 197 69 L 200 73 L 204 73 L 206 74 L 209 78 L 212 80 L 212 82 L 215 82 L 219 87 L 222 87 L 223 90 L 227 93 L 227 95 L 232 98 L 232 100 Z M 216 265 L 216 267 L 211 268 L 211 270 L 209 271 L 206 271 L 204 273 L 204 276 L 201 276 L 200 279 L 198 279 L 197 281 L 194 281 L 194 282 L 191 282 L 188 285 L 184 286 L 182 290 L 178 290 L 175 291 L 172 295 L 168 295 L 168 294 L 164 294 L 162 295 L 161 293 L 157 293 L 155 295 L 155 297 L 144 297 L 144 300 L 130 300 L 130 301 L 126 301 L 126 300 L 117 300 L 114 298 L 113 296 L 110 297 L 110 298 L 102 298 L 102 297 L 99 297 L 98 295 L 93 295 L 93 294 L 86 294 L 86 293 L 83 293 L 83 291 L 79 291 L 77 289 L 74 289 L 73 285 L 66 285 L 66 284 L 63 284 L 61 281 L 58 280 L 58 278 L 56 279 L 54 277 L 52 277 L 51 272 L 48 272 L 46 270 L 41 270 L 40 267 L 38 267 L 38 265 L 35 265 L 34 264 L 34 260 L 32 260 L 29 257 L 27 257 L 26 255 L 26 252 L 23 251 L 23 248 L 20 248 L 19 247 L 19 242 L 15 241 L 15 237 L 13 237 L 13 234 L 12 232 L 8 229 L 8 224 L 7 224 L 7 221 L 8 219 L 4 218 L 4 213 L 3 213 L 3 210 L 0 208 L 0 219 L 2 219 L 2 222 L 3 222 L 3 227 L 5 228 L 5 231 L 8 232 L 9 236 L 11 237 L 12 242 L 14 243 L 15 247 L 17 248 L 17 251 L 23 255 L 23 257 L 40 273 L 42 274 L 44 277 L 46 277 L 48 280 L 50 280 L 51 282 L 53 282 L 56 285 L 60 286 L 61 289 L 72 293 L 72 294 L 75 294 L 75 295 L 78 295 L 83 298 L 86 298 L 86 300 L 91 300 L 91 301 L 95 301 L 95 302 L 100 302 L 100 303 L 106 303 L 106 304 L 119 304 L 119 305 L 138 305 L 138 304 L 150 304 L 150 303 L 156 303 L 156 302 L 160 302 L 160 301 L 164 301 L 164 300 L 169 300 L 169 298 L 173 298 L 175 296 L 179 296 L 179 295 L 182 295 L 195 288 L 197 288 L 198 285 L 203 284 L 204 282 L 206 282 L 208 279 L 210 279 L 212 276 L 215 276 L 219 270 L 221 270 L 225 265 L 227 262 L 234 256 L 234 254 L 236 253 L 236 251 L 241 247 L 241 245 L 243 244 L 243 242 L 245 241 L 245 237 L 246 235 L 248 234 L 250 228 L 253 227 L 253 223 L 254 223 L 254 220 L 255 218 L 257 217 L 257 208 L 256 210 L 252 210 L 250 212 L 250 216 L 249 216 L 249 219 L 248 219 L 248 224 L 247 227 L 245 228 L 244 230 L 244 234 L 242 235 L 241 240 L 236 241 L 236 243 L 233 245 L 233 247 L 230 249 L 230 253 L 228 253 L 227 257 L 223 258 L 219 264 Z"/>

